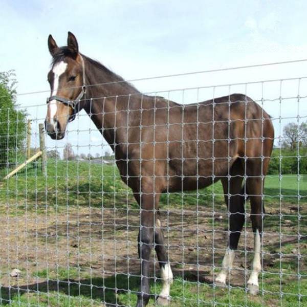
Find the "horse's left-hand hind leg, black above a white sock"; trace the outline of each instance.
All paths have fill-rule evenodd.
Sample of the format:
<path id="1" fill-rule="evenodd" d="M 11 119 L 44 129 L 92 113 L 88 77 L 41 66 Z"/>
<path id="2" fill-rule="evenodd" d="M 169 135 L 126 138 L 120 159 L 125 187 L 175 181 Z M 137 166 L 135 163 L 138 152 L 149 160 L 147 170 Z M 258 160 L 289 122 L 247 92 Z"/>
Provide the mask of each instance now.
<path id="1" fill-rule="evenodd" d="M 222 270 L 217 275 L 215 283 L 225 286 L 229 270 L 232 268 L 234 251 L 237 249 L 239 237 L 245 221 L 244 190 L 242 190 L 243 168 L 237 160 L 230 171 L 230 180 L 223 178 L 222 185 L 225 202 L 230 213 L 229 216 L 229 240 L 225 256 L 222 262 Z"/>

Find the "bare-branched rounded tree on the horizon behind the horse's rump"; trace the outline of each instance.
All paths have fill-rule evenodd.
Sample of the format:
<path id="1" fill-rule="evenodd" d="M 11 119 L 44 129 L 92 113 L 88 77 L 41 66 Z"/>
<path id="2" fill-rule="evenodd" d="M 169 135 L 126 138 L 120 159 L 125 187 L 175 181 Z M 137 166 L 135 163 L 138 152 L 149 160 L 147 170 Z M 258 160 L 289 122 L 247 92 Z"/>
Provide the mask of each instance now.
<path id="1" fill-rule="evenodd" d="M 289 123 L 283 127 L 283 148 L 289 148 L 290 150 L 297 149 L 297 145 L 300 147 L 307 146 L 307 121 L 302 122 L 300 125 L 296 123 Z"/>

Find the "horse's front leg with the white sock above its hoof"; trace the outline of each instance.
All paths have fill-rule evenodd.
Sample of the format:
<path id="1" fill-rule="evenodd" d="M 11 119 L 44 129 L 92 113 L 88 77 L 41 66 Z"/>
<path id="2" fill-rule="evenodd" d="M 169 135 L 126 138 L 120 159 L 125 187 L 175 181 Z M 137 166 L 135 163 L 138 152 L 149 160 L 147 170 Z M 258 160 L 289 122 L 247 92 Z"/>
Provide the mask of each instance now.
<path id="1" fill-rule="evenodd" d="M 170 268 L 170 264 L 168 261 L 168 255 L 167 255 L 167 250 L 164 245 L 164 234 L 161 227 L 161 222 L 159 218 L 159 213 L 157 213 L 156 217 L 156 229 L 155 229 L 155 249 L 157 253 L 157 257 L 159 260 L 159 265 L 160 265 L 160 272 L 161 272 L 161 278 L 163 280 L 163 286 L 161 293 L 159 294 L 157 303 L 159 305 L 166 305 L 168 306 L 169 304 L 169 290 L 170 290 L 170 285 L 173 280 L 173 274 Z"/>

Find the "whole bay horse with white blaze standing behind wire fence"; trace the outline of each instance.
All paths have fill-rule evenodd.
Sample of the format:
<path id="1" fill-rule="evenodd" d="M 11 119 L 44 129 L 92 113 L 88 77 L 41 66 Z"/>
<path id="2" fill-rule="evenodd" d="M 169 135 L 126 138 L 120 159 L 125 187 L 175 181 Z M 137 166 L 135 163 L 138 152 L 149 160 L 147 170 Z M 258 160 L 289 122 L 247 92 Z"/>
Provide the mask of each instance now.
<path id="1" fill-rule="evenodd" d="M 58 47 L 49 35 L 48 47 L 52 55 L 45 121 L 48 135 L 62 139 L 68 122 L 84 109 L 114 151 L 121 179 L 140 206 L 137 307 L 145 306 L 150 297 L 153 247 L 163 280 L 158 304 L 169 302 L 173 274 L 161 229 L 161 193 L 204 188 L 218 180 L 229 210 L 229 229 L 222 270 L 215 282 L 226 283 L 249 198 L 254 257 L 247 283 L 250 293 L 257 294 L 264 178 L 274 140 L 270 116 L 243 94 L 186 105 L 144 95 L 101 63 L 79 53 L 71 32 L 67 46 Z"/>

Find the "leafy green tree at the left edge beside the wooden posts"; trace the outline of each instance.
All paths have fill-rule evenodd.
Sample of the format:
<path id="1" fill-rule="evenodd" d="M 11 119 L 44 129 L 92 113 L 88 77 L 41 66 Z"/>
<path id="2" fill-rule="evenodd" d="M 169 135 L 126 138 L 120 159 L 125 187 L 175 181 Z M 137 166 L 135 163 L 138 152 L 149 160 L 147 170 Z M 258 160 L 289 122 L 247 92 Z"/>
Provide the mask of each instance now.
<path id="1" fill-rule="evenodd" d="M 16 104 L 13 71 L 0 72 L 0 168 L 18 159 L 26 139 L 26 112 Z"/>

